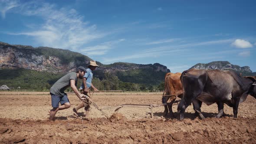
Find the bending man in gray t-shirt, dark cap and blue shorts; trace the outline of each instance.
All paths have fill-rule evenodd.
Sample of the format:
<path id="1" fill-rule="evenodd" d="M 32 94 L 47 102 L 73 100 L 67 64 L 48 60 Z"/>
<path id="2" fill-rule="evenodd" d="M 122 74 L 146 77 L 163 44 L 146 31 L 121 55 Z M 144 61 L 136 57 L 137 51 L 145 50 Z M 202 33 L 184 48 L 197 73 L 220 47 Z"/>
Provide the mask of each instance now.
<path id="1" fill-rule="evenodd" d="M 85 68 L 82 66 L 79 66 L 76 70 L 76 72 L 70 72 L 60 78 L 50 89 L 50 94 L 52 96 L 52 106 L 53 109 L 49 110 L 50 117 L 49 120 L 53 121 L 54 117 L 59 110 L 63 110 L 66 108 L 70 108 L 69 98 L 67 94 L 64 92 L 66 88 L 69 86 L 73 89 L 75 92 L 75 95 L 81 100 L 85 100 L 85 95 L 81 94 L 77 88 L 77 78 L 82 79 L 85 75 Z M 61 105 L 59 105 L 59 103 Z"/>

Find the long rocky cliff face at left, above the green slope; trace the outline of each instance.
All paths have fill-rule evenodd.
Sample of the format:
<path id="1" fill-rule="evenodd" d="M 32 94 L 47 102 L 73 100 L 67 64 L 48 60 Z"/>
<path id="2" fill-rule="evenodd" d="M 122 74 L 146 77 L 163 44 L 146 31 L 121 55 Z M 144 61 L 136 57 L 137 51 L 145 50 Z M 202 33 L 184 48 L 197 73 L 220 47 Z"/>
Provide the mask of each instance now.
<path id="1" fill-rule="evenodd" d="M 46 72 L 68 72 L 91 59 L 78 52 L 49 47 L 0 43 L 0 68 L 23 68 Z"/>

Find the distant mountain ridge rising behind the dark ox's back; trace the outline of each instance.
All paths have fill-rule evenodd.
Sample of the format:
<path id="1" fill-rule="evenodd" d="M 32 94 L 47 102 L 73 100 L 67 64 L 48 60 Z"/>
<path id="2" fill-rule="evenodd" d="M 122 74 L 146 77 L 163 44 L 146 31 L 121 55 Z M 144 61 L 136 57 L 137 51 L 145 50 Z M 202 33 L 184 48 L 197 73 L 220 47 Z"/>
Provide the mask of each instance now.
<path id="1" fill-rule="evenodd" d="M 192 66 L 190 69 L 220 69 L 220 70 L 233 70 L 237 73 L 242 73 L 243 76 L 247 75 L 256 75 L 256 72 L 252 72 L 249 66 L 232 65 L 228 61 L 215 61 L 207 64 L 197 63 Z"/>

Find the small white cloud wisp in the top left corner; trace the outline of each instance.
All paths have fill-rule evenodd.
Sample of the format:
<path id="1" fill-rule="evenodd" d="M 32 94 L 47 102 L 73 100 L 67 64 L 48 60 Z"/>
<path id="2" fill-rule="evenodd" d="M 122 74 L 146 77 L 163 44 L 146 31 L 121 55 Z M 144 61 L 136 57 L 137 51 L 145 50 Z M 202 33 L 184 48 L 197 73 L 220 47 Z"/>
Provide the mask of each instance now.
<path id="1" fill-rule="evenodd" d="M 5 14 L 8 10 L 18 6 L 19 4 L 16 0 L 0 0 L 0 12 L 2 18 L 5 18 Z"/>

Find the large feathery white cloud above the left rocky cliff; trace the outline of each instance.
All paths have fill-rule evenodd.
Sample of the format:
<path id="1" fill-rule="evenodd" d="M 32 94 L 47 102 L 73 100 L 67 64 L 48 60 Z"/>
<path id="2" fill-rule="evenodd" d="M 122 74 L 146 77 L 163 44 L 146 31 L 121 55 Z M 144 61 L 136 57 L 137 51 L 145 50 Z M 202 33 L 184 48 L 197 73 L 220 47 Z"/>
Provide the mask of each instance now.
<path id="1" fill-rule="evenodd" d="M 32 36 L 41 46 L 77 51 L 106 35 L 98 32 L 96 25 L 84 21 L 83 16 L 74 9 L 58 9 L 54 4 L 38 1 L 22 3 L 16 9 L 17 13 L 43 19 L 43 23 L 30 31 L 9 34 Z"/>

